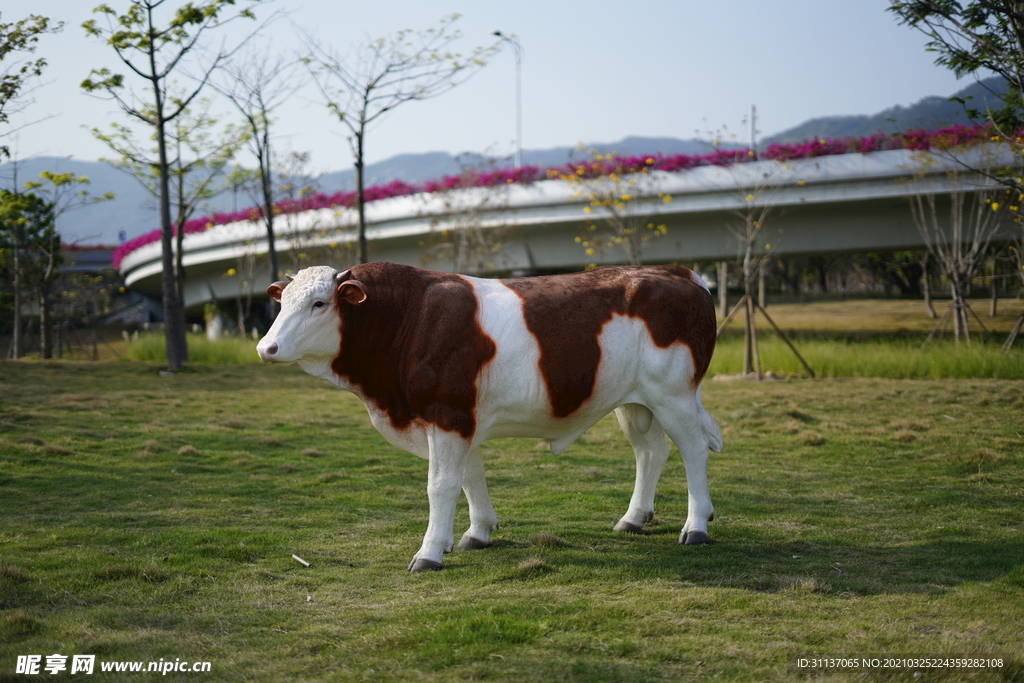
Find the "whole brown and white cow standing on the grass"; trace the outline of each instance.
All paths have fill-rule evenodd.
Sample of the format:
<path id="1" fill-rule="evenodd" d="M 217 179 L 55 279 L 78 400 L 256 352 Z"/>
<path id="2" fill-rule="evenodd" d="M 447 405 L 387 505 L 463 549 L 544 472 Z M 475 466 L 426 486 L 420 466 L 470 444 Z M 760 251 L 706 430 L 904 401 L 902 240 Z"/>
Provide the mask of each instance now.
<path id="1" fill-rule="evenodd" d="M 459 547 L 490 543 L 498 517 L 480 443 L 540 437 L 559 455 L 612 410 L 637 462 L 615 529 L 638 532 L 653 517 L 668 432 L 689 489 L 679 542 L 708 542 L 708 450 L 721 449 L 722 434 L 700 404 L 700 381 L 715 350 L 715 306 L 690 270 L 481 280 L 368 263 L 306 268 L 267 292 L 282 308 L 260 357 L 355 393 L 384 438 L 428 460 L 430 519 L 412 571 L 439 569 L 452 550 L 460 489 L 470 526 Z"/>

